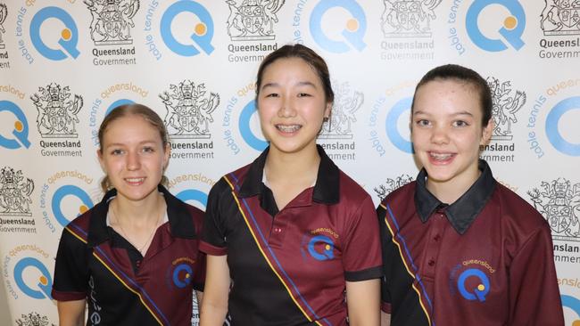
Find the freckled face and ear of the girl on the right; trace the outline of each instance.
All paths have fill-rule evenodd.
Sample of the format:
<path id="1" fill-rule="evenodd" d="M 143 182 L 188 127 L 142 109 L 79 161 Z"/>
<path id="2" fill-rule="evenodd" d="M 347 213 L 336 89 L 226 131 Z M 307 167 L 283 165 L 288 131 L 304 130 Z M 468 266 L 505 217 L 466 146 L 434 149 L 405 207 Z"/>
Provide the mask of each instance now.
<path id="1" fill-rule="evenodd" d="M 483 112 L 474 86 L 458 80 L 434 80 L 415 94 L 411 139 L 428 174 L 427 183 L 468 187 L 479 175 L 479 145 L 487 143 L 492 121 Z"/>

